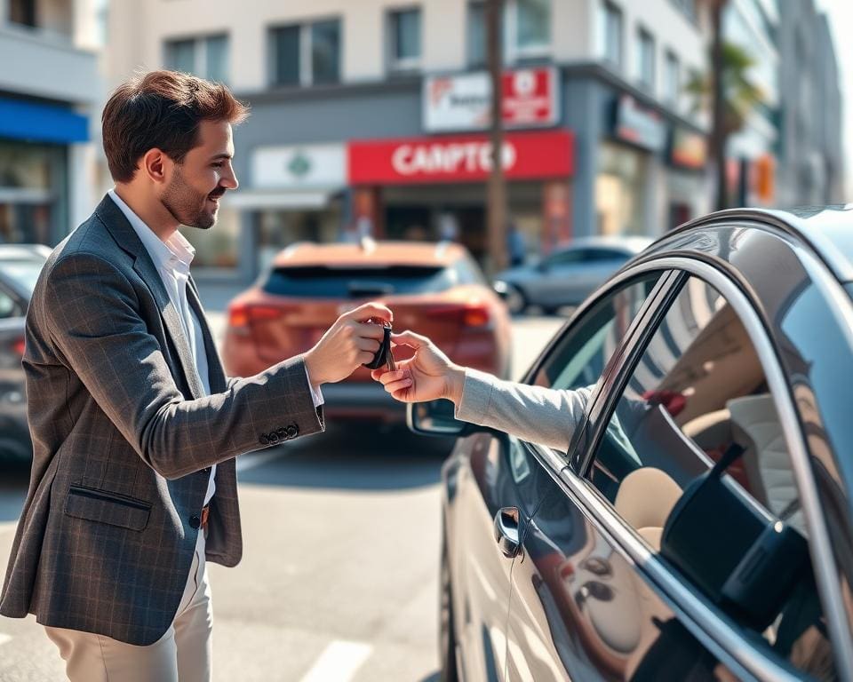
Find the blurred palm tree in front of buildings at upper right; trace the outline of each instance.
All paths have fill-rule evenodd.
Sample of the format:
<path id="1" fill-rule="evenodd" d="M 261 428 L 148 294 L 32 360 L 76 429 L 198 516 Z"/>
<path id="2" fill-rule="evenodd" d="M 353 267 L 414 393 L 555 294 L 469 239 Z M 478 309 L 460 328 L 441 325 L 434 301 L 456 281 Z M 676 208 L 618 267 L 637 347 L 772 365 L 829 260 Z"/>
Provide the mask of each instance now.
<path id="1" fill-rule="evenodd" d="M 712 46 L 712 53 L 713 53 Z M 711 156 L 717 176 L 717 209 L 728 207 L 726 192 L 726 141 L 729 135 L 744 128 L 755 107 L 764 101 L 764 93 L 749 77 L 755 60 L 737 44 L 721 42 L 717 68 L 708 73 L 694 73 L 685 89 L 693 97 L 694 112 L 701 109 L 713 111 Z M 717 78 L 715 75 L 719 74 Z M 720 94 L 715 96 L 719 86 Z M 718 106 L 719 105 L 719 106 Z"/>

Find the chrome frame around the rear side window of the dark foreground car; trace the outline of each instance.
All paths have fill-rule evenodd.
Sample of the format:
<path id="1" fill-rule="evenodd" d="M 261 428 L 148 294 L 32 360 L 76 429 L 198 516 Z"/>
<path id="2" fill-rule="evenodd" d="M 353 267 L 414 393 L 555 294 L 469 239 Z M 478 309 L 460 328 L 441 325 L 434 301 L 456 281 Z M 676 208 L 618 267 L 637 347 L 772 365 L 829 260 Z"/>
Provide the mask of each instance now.
<path id="1" fill-rule="evenodd" d="M 642 358 L 651 338 L 658 331 L 660 322 L 669 311 L 674 298 L 681 292 L 684 282 L 690 276 L 694 276 L 712 286 L 737 313 L 745 327 L 747 336 L 762 360 L 761 366 L 764 369 L 769 393 L 773 396 L 774 406 L 777 408 L 779 420 L 783 427 L 785 443 L 792 460 L 794 480 L 801 496 L 802 511 L 809 532 L 809 558 L 815 572 L 821 606 L 824 608 L 836 670 L 843 679 L 853 678 L 853 634 L 850 633 L 847 626 L 847 616 L 844 612 L 839 587 L 840 580 L 835 567 L 832 546 L 829 542 L 826 519 L 823 508 L 817 499 L 817 484 L 810 469 L 809 449 L 796 410 L 796 403 L 785 378 L 779 352 L 772 342 L 769 329 L 761 321 L 761 316 L 750 297 L 749 290 L 738 281 L 737 274 L 729 270 L 727 266 L 722 266 L 719 263 L 712 265 L 710 262 L 682 256 L 669 256 L 644 261 L 629 268 L 626 273 L 660 270 L 664 265 L 666 265 L 664 269 L 672 271 L 674 277 L 667 279 L 668 289 L 655 299 L 657 307 L 650 312 L 650 323 L 642 329 L 640 334 L 626 337 L 626 353 L 620 358 L 617 367 L 610 368 L 609 380 L 604 381 L 603 385 L 602 382 L 596 385 L 596 391 L 591 400 L 592 407 L 588 410 L 585 419 L 585 440 L 578 444 L 576 456 L 572 458 L 570 466 L 563 473 L 570 479 L 576 479 L 574 482 L 578 485 L 575 486 L 575 492 L 582 493 L 586 505 L 591 504 L 594 499 L 596 505 L 601 504 L 605 509 L 612 512 L 600 515 L 598 523 L 602 524 L 603 522 L 610 535 L 618 536 L 618 542 L 624 543 L 624 548 L 630 548 L 630 558 L 638 566 L 643 567 L 643 570 L 654 569 L 650 572 L 653 574 L 651 577 L 658 584 L 664 583 L 666 587 L 664 584 L 661 586 L 665 591 L 673 595 L 680 595 L 675 603 L 677 610 L 684 614 L 692 612 L 695 615 L 701 615 L 699 622 L 706 625 L 705 628 L 701 628 L 701 631 L 717 630 L 719 632 L 721 624 L 730 621 L 717 607 L 699 595 L 689 580 L 674 572 L 671 567 L 649 550 L 635 529 L 618 516 L 610 503 L 594 486 L 592 480 L 589 479 L 589 473 L 594 464 L 594 454 L 610 421 L 610 416 L 618 404 L 618 399 L 624 393 L 637 362 Z M 617 355 L 614 354 L 614 359 L 616 357 Z M 764 360 L 767 357 L 773 359 L 770 367 Z M 602 378 L 604 376 L 602 375 Z M 582 503 L 580 506 L 583 508 L 585 504 Z M 642 547 L 642 551 L 639 550 L 638 545 Z M 673 597 L 673 599 L 676 598 Z M 705 601 L 706 604 L 700 605 L 702 601 Z M 684 606 L 685 603 L 688 604 L 688 607 Z M 707 627 L 708 623 L 714 627 Z M 727 623 L 727 627 L 734 628 L 735 632 L 742 630 L 742 627 L 734 622 Z M 724 640 L 731 639 L 732 633 L 722 634 L 727 635 L 723 638 Z M 751 674 L 758 674 L 760 678 L 762 675 L 768 674 L 769 670 L 766 667 L 768 662 L 772 662 L 774 668 L 777 668 L 777 662 L 772 661 L 766 652 L 757 646 L 753 646 L 743 637 L 737 636 L 727 648 L 737 660 L 738 656 L 735 653 L 739 651 L 738 647 L 742 648 L 745 644 L 748 645 L 748 649 L 753 655 L 747 656 L 746 658 L 749 660 L 742 663 L 748 663 L 747 670 L 754 669 Z M 760 660 L 757 657 L 760 657 Z M 778 669 L 773 674 L 778 672 L 790 675 L 790 672 L 784 669 Z"/>

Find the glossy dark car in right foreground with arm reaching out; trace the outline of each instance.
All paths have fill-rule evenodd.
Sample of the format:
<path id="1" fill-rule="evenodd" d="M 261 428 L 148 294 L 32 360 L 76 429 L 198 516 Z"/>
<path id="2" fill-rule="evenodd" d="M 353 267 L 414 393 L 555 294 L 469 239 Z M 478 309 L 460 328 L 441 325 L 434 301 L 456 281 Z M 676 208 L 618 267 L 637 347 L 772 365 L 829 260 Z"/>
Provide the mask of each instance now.
<path id="1" fill-rule="evenodd" d="M 594 385 L 567 451 L 458 434 L 442 679 L 853 679 L 853 210 L 677 229 L 523 380 Z M 523 416 L 519 416 L 523 419 Z"/>

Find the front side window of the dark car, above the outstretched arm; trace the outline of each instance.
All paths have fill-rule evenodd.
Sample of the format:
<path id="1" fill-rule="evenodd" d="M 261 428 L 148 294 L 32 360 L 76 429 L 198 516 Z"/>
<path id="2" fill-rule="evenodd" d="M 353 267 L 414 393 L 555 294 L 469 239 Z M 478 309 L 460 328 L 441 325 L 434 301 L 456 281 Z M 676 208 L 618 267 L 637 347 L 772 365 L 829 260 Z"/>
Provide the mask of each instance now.
<path id="1" fill-rule="evenodd" d="M 595 384 L 660 275 L 642 274 L 605 294 L 554 346 L 534 383 L 555 389 Z"/>

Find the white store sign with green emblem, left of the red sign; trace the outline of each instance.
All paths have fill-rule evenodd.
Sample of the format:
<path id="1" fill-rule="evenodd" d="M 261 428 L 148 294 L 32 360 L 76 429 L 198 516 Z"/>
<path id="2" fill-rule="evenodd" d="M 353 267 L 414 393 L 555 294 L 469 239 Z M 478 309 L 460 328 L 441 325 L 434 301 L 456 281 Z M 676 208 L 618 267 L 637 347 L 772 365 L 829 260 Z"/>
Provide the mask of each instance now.
<path id="1" fill-rule="evenodd" d="M 251 156 L 255 189 L 339 187 L 347 184 L 344 145 L 283 145 L 257 147 Z"/>

